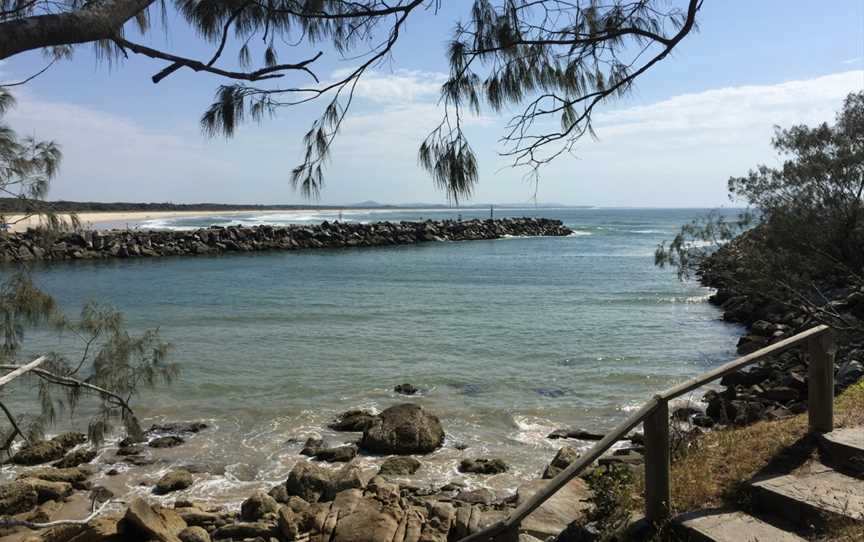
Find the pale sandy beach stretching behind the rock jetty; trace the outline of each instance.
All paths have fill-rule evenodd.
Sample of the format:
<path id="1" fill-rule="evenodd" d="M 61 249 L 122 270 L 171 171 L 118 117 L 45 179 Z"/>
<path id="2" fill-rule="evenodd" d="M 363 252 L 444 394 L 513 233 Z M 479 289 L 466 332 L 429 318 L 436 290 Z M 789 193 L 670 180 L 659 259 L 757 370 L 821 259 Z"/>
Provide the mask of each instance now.
<path id="1" fill-rule="evenodd" d="M 244 214 L 290 214 L 290 213 L 309 213 L 314 209 L 268 209 L 257 210 L 247 209 L 238 211 L 120 211 L 120 212 L 85 212 L 78 213 L 78 220 L 81 225 L 88 229 L 108 229 L 124 227 L 128 224 L 130 228 L 135 227 L 141 222 L 160 218 L 178 218 L 184 216 L 235 216 Z M 61 217 L 69 217 L 68 213 L 60 213 Z M 38 216 L 32 216 L 21 220 L 21 215 L 10 215 L 7 219 L 12 226 L 11 231 L 23 232 L 28 228 L 36 227 L 40 224 L 41 219 Z"/>

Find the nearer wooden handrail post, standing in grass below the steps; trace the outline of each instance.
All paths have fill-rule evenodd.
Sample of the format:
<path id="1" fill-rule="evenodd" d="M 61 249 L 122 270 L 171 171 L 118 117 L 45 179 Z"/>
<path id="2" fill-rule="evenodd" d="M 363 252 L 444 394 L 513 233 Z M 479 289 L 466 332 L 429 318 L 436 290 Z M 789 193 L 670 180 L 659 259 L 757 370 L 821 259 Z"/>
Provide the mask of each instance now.
<path id="1" fill-rule="evenodd" d="M 645 418 L 645 519 L 661 524 L 669 518 L 669 402 L 657 397 L 657 406 Z"/>

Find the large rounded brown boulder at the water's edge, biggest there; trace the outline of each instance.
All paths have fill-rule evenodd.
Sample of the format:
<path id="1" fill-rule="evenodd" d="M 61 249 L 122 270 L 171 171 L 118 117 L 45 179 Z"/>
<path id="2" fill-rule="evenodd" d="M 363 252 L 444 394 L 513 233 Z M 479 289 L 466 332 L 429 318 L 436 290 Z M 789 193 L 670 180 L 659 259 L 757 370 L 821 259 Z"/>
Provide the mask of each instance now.
<path id="1" fill-rule="evenodd" d="M 395 455 L 427 454 L 443 444 L 441 421 L 413 403 L 395 405 L 379 414 L 360 440 L 364 450 Z"/>

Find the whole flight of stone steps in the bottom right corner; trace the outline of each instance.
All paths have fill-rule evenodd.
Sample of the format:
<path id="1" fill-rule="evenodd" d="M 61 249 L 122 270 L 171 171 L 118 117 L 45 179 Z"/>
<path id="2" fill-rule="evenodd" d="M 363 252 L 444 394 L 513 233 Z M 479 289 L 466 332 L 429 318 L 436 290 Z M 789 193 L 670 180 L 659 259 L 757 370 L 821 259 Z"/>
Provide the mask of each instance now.
<path id="1" fill-rule="evenodd" d="M 837 519 L 864 523 L 864 427 L 820 435 L 819 458 L 750 482 L 754 512 L 701 510 L 674 519 L 693 542 L 797 542 Z"/>

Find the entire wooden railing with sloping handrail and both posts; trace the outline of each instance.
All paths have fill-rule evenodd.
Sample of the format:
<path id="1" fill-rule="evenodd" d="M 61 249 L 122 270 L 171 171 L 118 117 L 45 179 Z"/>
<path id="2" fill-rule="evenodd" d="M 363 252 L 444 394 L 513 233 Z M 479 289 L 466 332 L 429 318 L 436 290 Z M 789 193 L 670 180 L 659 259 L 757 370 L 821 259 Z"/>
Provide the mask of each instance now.
<path id="1" fill-rule="evenodd" d="M 706 384 L 758 363 L 771 355 L 804 346 L 809 355 L 807 404 L 810 431 L 828 433 L 834 427 L 834 352 L 830 328 L 812 327 L 782 341 L 742 356 L 696 378 L 682 382 L 652 397 L 606 434 L 590 450 L 527 499 L 503 521 L 463 538 L 460 542 L 488 542 L 504 533 L 514 533 L 526 517 L 551 498 L 586 467 L 640 423 L 645 433 L 645 519 L 654 525 L 669 518 L 671 506 L 669 458 L 669 401 Z M 575 503 L 574 503 L 575 505 Z"/>

